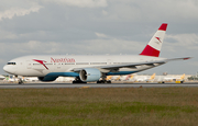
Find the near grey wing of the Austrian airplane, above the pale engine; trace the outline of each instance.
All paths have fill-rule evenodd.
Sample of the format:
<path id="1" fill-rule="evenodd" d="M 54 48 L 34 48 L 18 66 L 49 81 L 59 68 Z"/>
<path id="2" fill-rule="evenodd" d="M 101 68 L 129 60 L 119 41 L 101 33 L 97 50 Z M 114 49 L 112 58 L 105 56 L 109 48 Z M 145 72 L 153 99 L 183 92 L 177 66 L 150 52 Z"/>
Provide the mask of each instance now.
<path id="1" fill-rule="evenodd" d="M 184 57 L 184 58 L 172 58 L 172 59 L 164 59 L 164 60 L 157 60 L 157 61 L 145 61 L 145 62 L 134 62 L 134 64 L 121 64 L 121 65 L 109 65 L 109 66 L 95 66 L 94 68 L 98 68 L 101 72 L 106 72 L 106 70 L 110 71 L 118 71 L 120 68 L 138 68 L 139 66 L 160 66 L 163 64 L 166 64 L 168 61 L 174 60 L 187 60 L 191 57 Z M 89 67 L 90 68 L 90 67 Z M 85 68 L 74 68 L 72 71 L 79 72 Z"/>

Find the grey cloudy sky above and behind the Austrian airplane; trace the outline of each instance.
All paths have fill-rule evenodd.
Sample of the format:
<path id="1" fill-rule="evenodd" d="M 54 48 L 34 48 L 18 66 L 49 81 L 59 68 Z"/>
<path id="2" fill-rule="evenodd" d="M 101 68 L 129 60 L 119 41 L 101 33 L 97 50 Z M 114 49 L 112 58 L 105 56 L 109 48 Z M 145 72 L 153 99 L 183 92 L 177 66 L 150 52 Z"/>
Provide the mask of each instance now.
<path id="1" fill-rule="evenodd" d="M 161 57 L 170 61 L 141 73 L 198 71 L 197 0 L 1 0 L 0 75 L 25 55 L 139 55 L 168 23 Z"/>

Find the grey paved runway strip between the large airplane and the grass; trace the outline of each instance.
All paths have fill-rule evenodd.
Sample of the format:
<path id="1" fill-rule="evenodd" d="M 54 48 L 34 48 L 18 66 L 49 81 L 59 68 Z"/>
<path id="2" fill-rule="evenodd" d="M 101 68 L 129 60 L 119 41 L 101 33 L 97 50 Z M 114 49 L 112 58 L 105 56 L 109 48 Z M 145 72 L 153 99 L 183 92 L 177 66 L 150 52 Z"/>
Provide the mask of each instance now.
<path id="1" fill-rule="evenodd" d="M 48 89 L 48 88 L 198 88 L 198 83 L 111 83 L 111 84 L 72 84 L 72 83 L 0 83 L 0 89 Z"/>

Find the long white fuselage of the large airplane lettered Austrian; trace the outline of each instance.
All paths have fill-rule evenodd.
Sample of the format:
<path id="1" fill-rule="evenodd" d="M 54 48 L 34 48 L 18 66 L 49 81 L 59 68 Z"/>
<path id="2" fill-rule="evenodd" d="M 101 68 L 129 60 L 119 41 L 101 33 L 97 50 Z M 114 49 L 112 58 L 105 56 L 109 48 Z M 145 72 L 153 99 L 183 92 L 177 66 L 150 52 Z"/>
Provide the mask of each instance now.
<path id="1" fill-rule="evenodd" d="M 114 66 L 134 62 L 157 61 L 165 58 L 140 55 L 52 55 L 52 56 L 25 56 L 12 59 L 4 66 L 4 71 L 11 75 L 25 77 L 44 77 L 48 73 L 73 73 L 77 68 Z M 42 62 L 43 61 L 43 62 Z M 118 71 L 105 71 L 107 75 L 128 75 L 150 69 L 154 66 L 140 66 L 135 68 L 119 68 Z M 67 76 L 67 75 L 65 75 Z M 68 75 L 68 77 L 75 77 Z"/>

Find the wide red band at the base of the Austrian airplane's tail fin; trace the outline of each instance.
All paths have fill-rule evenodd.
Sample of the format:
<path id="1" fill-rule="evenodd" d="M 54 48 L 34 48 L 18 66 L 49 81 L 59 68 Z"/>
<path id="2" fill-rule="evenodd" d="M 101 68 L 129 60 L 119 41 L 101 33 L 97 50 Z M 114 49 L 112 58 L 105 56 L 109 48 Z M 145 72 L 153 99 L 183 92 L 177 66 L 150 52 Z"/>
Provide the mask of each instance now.
<path id="1" fill-rule="evenodd" d="M 146 45 L 146 47 L 140 55 L 158 57 L 160 53 L 161 53 L 160 50 L 151 47 L 150 45 Z"/>

